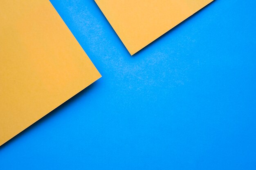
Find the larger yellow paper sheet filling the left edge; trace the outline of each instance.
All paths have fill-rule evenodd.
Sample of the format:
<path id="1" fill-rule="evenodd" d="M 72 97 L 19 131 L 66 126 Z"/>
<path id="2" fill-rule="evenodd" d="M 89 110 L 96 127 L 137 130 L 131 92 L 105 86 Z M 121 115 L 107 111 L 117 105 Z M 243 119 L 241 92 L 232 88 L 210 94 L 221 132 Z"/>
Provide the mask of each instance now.
<path id="1" fill-rule="evenodd" d="M 0 145 L 99 77 L 48 0 L 0 0 Z"/>

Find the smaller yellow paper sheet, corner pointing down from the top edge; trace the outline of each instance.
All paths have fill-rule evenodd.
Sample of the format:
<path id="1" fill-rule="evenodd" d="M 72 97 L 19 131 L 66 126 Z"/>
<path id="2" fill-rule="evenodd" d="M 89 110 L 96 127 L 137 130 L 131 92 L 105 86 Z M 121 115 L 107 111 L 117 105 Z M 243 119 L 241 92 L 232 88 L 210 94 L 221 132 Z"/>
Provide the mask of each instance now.
<path id="1" fill-rule="evenodd" d="M 213 0 L 95 0 L 131 55 Z"/>

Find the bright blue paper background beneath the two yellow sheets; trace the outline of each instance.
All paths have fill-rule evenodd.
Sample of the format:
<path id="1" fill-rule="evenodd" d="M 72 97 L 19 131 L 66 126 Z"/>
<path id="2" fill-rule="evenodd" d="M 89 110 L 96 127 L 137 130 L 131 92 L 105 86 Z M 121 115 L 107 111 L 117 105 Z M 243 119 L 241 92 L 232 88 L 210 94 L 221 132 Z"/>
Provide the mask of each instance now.
<path id="1" fill-rule="evenodd" d="M 51 2 L 102 78 L 0 147 L 0 170 L 256 169 L 256 1 L 216 0 L 134 56 L 93 0 Z"/>

